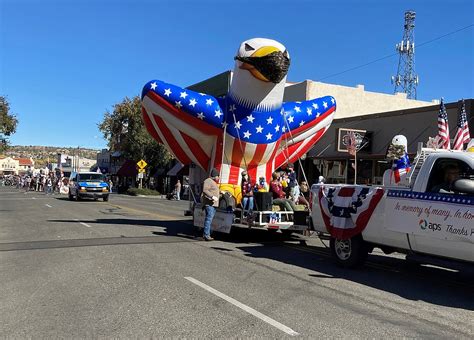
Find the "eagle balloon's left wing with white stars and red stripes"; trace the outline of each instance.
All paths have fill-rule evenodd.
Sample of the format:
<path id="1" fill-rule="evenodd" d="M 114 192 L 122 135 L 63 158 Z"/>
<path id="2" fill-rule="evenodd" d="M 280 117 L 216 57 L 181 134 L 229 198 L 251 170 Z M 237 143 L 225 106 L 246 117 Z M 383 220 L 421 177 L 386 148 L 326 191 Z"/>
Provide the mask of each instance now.
<path id="1" fill-rule="evenodd" d="M 142 115 L 152 137 L 181 163 L 208 170 L 224 121 L 216 98 L 152 80 L 143 87 Z"/>

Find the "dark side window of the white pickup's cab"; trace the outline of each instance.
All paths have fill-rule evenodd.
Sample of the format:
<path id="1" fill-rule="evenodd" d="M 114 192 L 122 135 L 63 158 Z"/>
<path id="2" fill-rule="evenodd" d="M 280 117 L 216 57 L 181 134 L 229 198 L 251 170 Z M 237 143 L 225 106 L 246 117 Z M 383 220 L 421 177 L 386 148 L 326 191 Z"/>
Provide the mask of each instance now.
<path id="1" fill-rule="evenodd" d="M 433 166 L 426 191 L 454 194 L 452 184 L 460 178 L 474 180 L 473 169 L 463 161 L 452 158 L 440 158 Z"/>

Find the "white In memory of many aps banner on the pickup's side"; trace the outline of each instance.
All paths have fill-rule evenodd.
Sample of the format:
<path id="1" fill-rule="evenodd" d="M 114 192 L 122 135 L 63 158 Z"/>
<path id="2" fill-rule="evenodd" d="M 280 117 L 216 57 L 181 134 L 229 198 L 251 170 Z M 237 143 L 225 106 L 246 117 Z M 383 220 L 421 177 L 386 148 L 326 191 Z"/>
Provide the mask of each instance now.
<path id="1" fill-rule="evenodd" d="M 474 243 L 474 197 L 389 190 L 387 229 L 441 240 Z"/>

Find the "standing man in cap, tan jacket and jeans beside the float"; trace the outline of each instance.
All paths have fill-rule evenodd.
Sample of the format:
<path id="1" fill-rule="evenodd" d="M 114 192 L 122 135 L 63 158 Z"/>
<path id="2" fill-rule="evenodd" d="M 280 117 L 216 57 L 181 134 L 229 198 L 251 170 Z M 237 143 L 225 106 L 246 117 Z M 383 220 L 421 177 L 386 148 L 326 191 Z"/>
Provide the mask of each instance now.
<path id="1" fill-rule="evenodd" d="M 201 202 L 206 211 L 206 217 L 204 218 L 204 233 L 203 237 L 205 241 L 214 240 L 211 237 L 211 222 L 216 214 L 216 208 L 219 206 L 219 171 L 213 168 L 211 174 L 204 181 L 202 188 Z"/>

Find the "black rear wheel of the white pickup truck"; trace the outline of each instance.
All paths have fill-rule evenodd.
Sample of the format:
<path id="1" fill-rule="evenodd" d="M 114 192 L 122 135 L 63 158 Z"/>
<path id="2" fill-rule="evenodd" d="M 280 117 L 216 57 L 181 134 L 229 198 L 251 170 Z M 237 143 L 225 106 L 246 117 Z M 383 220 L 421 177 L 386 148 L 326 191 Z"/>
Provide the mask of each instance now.
<path id="1" fill-rule="evenodd" d="M 369 254 L 369 249 L 361 235 L 348 240 L 338 240 L 331 237 L 331 255 L 336 263 L 345 268 L 354 268 L 361 265 Z"/>

